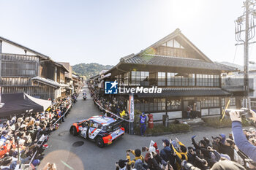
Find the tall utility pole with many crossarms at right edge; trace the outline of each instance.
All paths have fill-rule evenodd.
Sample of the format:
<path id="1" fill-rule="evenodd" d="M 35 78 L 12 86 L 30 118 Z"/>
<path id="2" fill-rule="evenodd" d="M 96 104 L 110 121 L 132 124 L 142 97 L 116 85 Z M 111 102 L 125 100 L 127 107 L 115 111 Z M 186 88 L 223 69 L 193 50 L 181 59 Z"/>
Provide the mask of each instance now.
<path id="1" fill-rule="evenodd" d="M 255 0 L 244 1 L 244 14 L 235 21 L 236 41 L 241 42 L 236 45 L 244 45 L 244 103 L 248 109 L 251 109 L 249 98 L 249 44 L 255 43 L 249 41 L 255 37 L 255 4 Z"/>

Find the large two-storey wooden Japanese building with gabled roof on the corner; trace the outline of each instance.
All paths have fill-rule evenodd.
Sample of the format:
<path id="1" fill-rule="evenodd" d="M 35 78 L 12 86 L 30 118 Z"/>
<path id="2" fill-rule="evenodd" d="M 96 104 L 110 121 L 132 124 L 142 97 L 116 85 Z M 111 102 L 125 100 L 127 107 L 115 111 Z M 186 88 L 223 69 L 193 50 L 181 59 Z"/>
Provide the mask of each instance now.
<path id="1" fill-rule="evenodd" d="M 176 29 L 140 53 L 121 58 L 105 72 L 103 80 L 117 80 L 119 88 L 162 88 L 162 93 L 135 94 L 135 109 L 153 113 L 154 120 L 162 120 L 165 114 L 170 119 L 186 118 L 188 106 L 199 117 L 220 115 L 227 98 L 232 96 L 222 89 L 221 74 L 236 71 L 211 61 Z M 128 95 L 116 96 L 126 97 L 129 102 Z M 230 104 L 236 105 L 236 101 Z"/>

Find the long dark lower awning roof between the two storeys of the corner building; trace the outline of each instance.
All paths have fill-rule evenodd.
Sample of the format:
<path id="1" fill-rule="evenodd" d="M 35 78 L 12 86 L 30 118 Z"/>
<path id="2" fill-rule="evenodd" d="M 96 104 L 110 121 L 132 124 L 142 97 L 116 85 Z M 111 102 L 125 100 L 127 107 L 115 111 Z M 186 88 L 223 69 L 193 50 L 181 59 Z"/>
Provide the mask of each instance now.
<path id="1" fill-rule="evenodd" d="M 230 96 L 221 88 L 163 88 L 162 93 L 138 93 L 139 98 L 162 98 L 181 96 Z"/>

